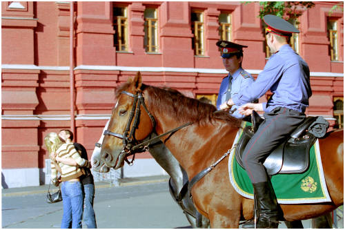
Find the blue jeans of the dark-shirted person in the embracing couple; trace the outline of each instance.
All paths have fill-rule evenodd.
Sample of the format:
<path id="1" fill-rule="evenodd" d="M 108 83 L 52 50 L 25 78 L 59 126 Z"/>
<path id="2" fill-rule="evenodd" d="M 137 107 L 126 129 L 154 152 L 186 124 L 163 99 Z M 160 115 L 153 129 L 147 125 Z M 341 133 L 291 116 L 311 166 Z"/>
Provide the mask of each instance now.
<path id="1" fill-rule="evenodd" d="M 96 229 L 95 211 L 93 210 L 93 200 L 95 198 L 95 184 L 83 184 L 84 187 L 84 212 L 83 222 L 88 229 Z"/>

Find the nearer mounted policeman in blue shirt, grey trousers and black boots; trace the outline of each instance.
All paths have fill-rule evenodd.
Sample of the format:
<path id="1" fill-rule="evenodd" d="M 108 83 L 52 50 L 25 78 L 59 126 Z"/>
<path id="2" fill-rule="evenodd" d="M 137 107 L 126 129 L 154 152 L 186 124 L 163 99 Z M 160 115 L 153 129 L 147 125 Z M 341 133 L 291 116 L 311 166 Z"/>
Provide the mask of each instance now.
<path id="1" fill-rule="evenodd" d="M 239 90 L 237 95 L 221 104 L 220 108 L 244 104 L 239 108 L 242 114 L 249 115 L 253 110 L 265 112 L 264 122 L 244 149 L 243 160 L 259 207 L 256 227 L 277 228 L 277 200 L 262 162 L 304 121 L 304 111 L 311 97 L 311 85 L 306 61 L 288 45 L 288 38 L 299 30 L 274 15 L 266 15 L 264 22 L 267 24 L 267 45 L 273 55 L 256 81 Z M 267 103 L 248 103 L 262 97 L 267 90 L 273 93 Z M 253 228 L 253 223 L 243 227 Z"/>

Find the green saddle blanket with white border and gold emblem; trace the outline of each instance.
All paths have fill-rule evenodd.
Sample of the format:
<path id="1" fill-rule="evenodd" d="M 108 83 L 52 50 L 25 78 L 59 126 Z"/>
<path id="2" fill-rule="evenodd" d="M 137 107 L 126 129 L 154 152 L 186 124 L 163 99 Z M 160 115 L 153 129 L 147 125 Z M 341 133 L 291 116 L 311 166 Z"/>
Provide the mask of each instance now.
<path id="1" fill-rule="evenodd" d="M 236 135 L 234 145 L 237 144 L 243 133 L 243 128 L 248 122 L 242 122 L 242 127 Z M 229 155 L 229 178 L 234 189 L 245 198 L 253 199 L 253 185 L 235 157 L 235 148 Z M 279 204 L 306 204 L 331 202 L 328 194 L 324 171 L 319 153 L 319 141 L 317 140 L 310 151 L 310 166 L 304 173 L 277 174 L 271 178 L 277 202 Z"/>

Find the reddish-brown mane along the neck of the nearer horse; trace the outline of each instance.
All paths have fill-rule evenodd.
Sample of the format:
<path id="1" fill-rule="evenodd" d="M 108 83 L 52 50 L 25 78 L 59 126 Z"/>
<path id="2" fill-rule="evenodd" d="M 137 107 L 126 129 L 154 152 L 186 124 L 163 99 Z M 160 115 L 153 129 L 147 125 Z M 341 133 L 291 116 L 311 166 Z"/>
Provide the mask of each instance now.
<path id="1" fill-rule="evenodd" d="M 177 119 L 177 122 L 193 122 L 199 125 L 213 124 L 216 119 L 226 121 L 230 126 L 239 127 L 241 119 L 229 115 L 227 111 L 217 111 L 213 104 L 200 102 L 198 99 L 186 97 L 171 88 L 157 88 L 143 84 L 148 92 L 148 108 L 150 111 L 161 111 Z M 217 111 L 217 113 L 214 113 Z"/>

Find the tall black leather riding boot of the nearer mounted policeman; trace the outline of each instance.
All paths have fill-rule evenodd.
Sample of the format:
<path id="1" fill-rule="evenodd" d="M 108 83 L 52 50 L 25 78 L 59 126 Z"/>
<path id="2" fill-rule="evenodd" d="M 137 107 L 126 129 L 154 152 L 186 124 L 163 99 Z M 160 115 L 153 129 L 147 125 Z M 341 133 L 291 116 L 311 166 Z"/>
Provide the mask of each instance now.
<path id="1" fill-rule="evenodd" d="M 277 229 L 279 224 L 278 207 L 273 189 L 270 188 L 268 182 L 255 183 L 253 187 L 259 204 L 257 229 Z M 244 229 L 253 229 L 254 227 L 254 220 L 242 225 Z"/>

